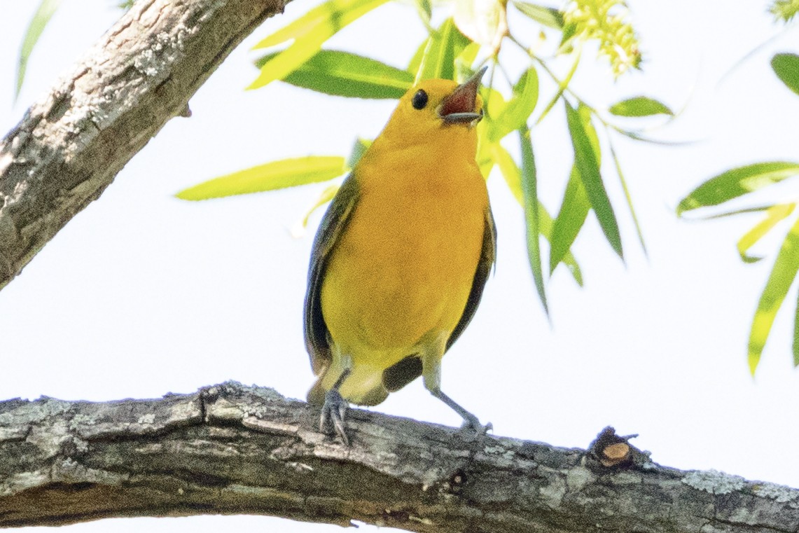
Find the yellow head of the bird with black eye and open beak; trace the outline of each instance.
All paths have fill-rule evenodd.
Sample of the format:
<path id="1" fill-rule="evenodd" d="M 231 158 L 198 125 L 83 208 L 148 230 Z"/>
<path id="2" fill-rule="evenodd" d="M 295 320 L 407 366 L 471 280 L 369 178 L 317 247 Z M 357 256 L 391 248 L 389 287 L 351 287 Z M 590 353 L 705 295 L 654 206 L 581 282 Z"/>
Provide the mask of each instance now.
<path id="1" fill-rule="evenodd" d="M 392 144 L 475 144 L 474 126 L 483 118 L 483 99 L 478 93 L 483 67 L 466 82 L 423 80 L 400 98 L 383 135 Z"/>

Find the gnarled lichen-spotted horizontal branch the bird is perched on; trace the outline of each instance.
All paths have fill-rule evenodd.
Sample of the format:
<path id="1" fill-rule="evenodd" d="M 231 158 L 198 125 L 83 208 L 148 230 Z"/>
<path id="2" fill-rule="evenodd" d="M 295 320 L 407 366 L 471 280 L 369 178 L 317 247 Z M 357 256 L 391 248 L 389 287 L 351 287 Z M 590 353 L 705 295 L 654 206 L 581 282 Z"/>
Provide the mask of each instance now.
<path id="1" fill-rule="evenodd" d="M 236 383 L 161 400 L 0 403 L 0 526 L 274 515 L 407 531 L 799 531 L 799 491 L 650 461 L 606 428 L 589 451 L 318 409 Z"/>

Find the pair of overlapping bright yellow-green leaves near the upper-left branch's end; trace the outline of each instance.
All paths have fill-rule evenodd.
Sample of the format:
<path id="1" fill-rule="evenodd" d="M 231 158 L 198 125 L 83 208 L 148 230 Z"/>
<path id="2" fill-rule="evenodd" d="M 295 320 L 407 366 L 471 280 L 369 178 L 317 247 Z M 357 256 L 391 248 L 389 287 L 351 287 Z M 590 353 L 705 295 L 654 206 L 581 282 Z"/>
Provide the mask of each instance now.
<path id="1" fill-rule="evenodd" d="M 253 50 L 275 46 L 294 39 L 291 46 L 261 66 L 260 74 L 247 89 L 257 89 L 288 74 L 312 58 L 322 43 L 360 16 L 388 0 L 328 0 L 316 6 L 288 26 L 277 30 L 253 46 Z"/>

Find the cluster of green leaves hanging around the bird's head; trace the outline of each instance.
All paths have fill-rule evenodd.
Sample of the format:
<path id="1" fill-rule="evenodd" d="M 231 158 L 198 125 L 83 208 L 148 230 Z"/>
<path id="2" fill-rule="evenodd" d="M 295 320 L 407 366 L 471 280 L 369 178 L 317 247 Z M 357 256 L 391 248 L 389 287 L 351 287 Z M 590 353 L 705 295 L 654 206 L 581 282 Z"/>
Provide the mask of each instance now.
<path id="1" fill-rule="evenodd" d="M 627 209 L 632 213 L 638 238 L 641 245 L 644 245 L 621 171 L 621 163 L 610 145 L 611 135 L 622 134 L 634 138 L 640 138 L 641 135 L 635 130 L 610 123 L 606 117 L 641 119 L 655 115 L 671 117 L 673 113 L 662 102 L 643 96 L 618 101 L 604 113 L 598 113 L 570 89 L 570 80 L 580 64 L 583 42 L 598 39 L 607 44 L 616 39 L 617 44 L 624 44 L 628 48 L 631 46 L 630 39 L 634 32 L 622 14 L 615 9 L 620 5 L 619 2 L 605 2 L 607 6 L 600 5 L 602 2 L 587 2 L 593 6 L 590 9 L 584 5 L 586 2 L 571 2 L 570 11 L 563 12 L 553 7 L 515 0 L 511 4 L 515 10 L 509 14 L 507 3 L 500 0 L 457 0 L 454 15 L 433 28 L 430 3 L 418 0 L 415 6 L 428 30 L 427 37 L 419 43 L 415 54 L 409 58 L 404 68 L 390 66 L 360 54 L 323 48 L 333 34 L 368 11 L 380 7 L 385 1 L 328 0 L 268 35 L 254 49 L 280 48 L 271 50 L 256 60 L 255 65 L 260 74 L 248 89 L 260 89 L 280 80 L 338 97 L 398 98 L 419 80 L 444 78 L 459 81 L 483 65 L 490 64 L 491 74 L 487 86 L 483 88 L 487 116 L 478 126 L 477 161 L 485 177 L 493 169 L 499 169 L 524 211 L 528 257 L 543 308 L 548 308 L 548 276 L 551 276 L 558 265 L 566 265 L 574 280 L 582 285 L 582 271 L 572 252 L 572 245 L 589 213 L 593 212 L 597 218 L 610 249 L 623 260 L 622 237 L 615 214 L 618 206 L 614 208 L 611 204 L 606 192 L 607 177 L 601 169 L 603 149 L 610 151 L 610 157 L 614 160 L 614 169 L 626 192 Z M 590 13 L 577 17 L 575 13 L 579 10 Z M 520 44 L 511 31 L 515 17 L 531 19 L 539 24 L 541 32 L 557 34 L 560 43 L 558 54 L 572 58 L 570 70 L 564 78 L 555 74 L 547 58 L 540 57 Z M 594 26 L 604 30 L 587 31 L 586 25 L 590 25 L 591 20 L 594 21 Z M 618 38 L 610 35 L 613 29 L 618 33 Z M 519 78 L 511 79 L 505 74 L 507 69 L 503 66 L 499 51 L 507 43 L 508 46 L 521 48 L 529 58 L 529 64 Z M 637 40 L 632 45 L 637 50 Z M 602 46 L 605 45 L 600 45 L 601 50 Z M 630 66 L 637 66 L 637 61 Z M 622 69 L 614 66 L 613 70 L 614 74 L 620 74 Z M 497 73 L 504 76 L 510 86 L 509 92 L 503 93 L 498 88 L 495 83 Z M 536 113 L 541 75 L 552 78 L 556 90 L 547 98 L 543 110 Z M 539 177 L 535 167 L 535 147 L 530 125 L 534 121 L 542 121 L 559 102 L 562 102 L 565 111 L 574 149 L 574 165 L 568 177 L 559 213 L 553 217 L 539 201 Z M 596 125 L 602 130 L 602 142 Z M 508 149 L 508 142 L 516 147 Z M 273 161 L 217 177 L 181 191 L 177 196 L 186 200 L 205 200 L 332 179 L 352 169 L 363 149 L 364 143 L 356 141 L 355 149 L 348 157 L 346 165 L 342 165 L 344 157 L 304 157 Z M 519 153 L 520 156 L 516 158 L 512 153 Z M 324 171 L 308 172 L 309 165 L 314 169 L 324 168 Z M 331 190 L 325 190 L 314 209 L 324 205 L 331 196 Z M 304 220 L 308 220 L 307 215 Z M 543 257 L 541 237 L 550 242 L 548 261 Z M 545 271 L 544 265 L 547 264 L 549 268 Z"/>

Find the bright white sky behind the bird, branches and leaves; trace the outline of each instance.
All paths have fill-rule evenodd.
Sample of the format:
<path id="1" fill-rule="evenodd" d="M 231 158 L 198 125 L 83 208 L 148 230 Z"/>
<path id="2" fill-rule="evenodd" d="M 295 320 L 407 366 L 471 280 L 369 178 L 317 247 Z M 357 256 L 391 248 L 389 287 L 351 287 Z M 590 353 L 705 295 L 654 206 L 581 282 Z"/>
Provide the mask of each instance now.
<path id="1" fill-rule="evenodd" d="M 0 2 L 3 133 L 120 16 L 113 3 L 63 2 L 14 104 L 16 54 L 38 2 Z M 620 434 L 639 433 L 634 444 L 652 451 L 658 463 L 799 487 L 799 374 L 790 356 L 795 288 L 777 316 L 756 379 L 745 360 L 749 324 L 779 243 L 766 240 L 759 251 L 769 257 L 743 265 L 735 242 L 757 215 L 704 223 L 674 216 L 679 199 L 716 173 L 799 159 L 799 97 L 769 68 L 773 52 L 797 51 L 796 33 L 719 85 L 738 59 L 781 29 L 765 13 L 767 2 L 630 4 L 643 40 L 643 74 L 614 84 L 604 64 L 590 67 L 575 80 L 578 93 L 596 107 L 640 93 L 675 109 L 688 101 L 686 113 L 654 135 L 702 140 L 681 148 L 614 143 L 649 259 L 608 168 L 627 264 L 614 256 L 591 215 L 574 249 L 586 288 L 562 267 L 555 272 L 548 284 L 551 328 L 527 265 L 521 210 L 493 175 L 499 262 L 475 320 L 444 360 L 443 390 L 491 421 L 496 435 L 586 447 L 612 424 Z M 0 292 L 0 398 L 158 397 L 224 380 L 304 397 L 312 372 L 302 341 L 302 300 L 320 214 L 303 238 L 291 237 L 289 229 L 327 185 L 201 203 L 179 201 L 173 193 L 283 157 L 347 155 L 357 136 L 379 133 L 394 101 L 324 97 L 280 83 L 244 92 L 256 76 L 249 47 L 311 6 L 295 0 L 284 16 L 256 30 L 192 98 L 193 117 L 170 121 L 100 200 Z M 519 21 L 513 16 L 511 30 Z M 330 46 L 404 66 L 423 31 L 411 6 L 390 4 L 346 28 Z M 532 42 L 535 34 L 520 38 Z M 519 55 L 507 59 L 513 58 Z M 539 101 L 551 94 L 551 84 L 542 81 Z M 571 164 L 564 123 L 558 105 L 533 133 L 540 193 L 553 214 Z M 460 422 L 418 380 L 376 409 Z M 68 531 L 107 531 L 112 524 L 113 531 L 332 529 L 264 517 L 201 517 L 101 521 Z"/>

